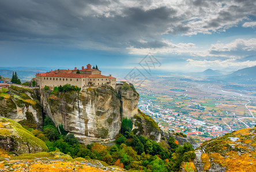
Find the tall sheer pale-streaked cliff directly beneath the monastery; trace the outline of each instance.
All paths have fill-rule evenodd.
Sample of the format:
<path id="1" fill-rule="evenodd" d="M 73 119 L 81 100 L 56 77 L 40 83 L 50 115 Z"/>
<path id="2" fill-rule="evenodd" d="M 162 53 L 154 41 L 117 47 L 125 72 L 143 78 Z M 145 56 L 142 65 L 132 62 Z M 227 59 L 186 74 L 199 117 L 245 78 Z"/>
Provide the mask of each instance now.
<path id="1" fill-rule="evenodd" d="M 119 90 L 110 85 L 76 91 L 41 90 L 43 111 L 58 126 L 73 133 L 81 143 L 107 142 L 121 130 L 122 118 L 138 112 L 138 93 L 129 85 Z"/>

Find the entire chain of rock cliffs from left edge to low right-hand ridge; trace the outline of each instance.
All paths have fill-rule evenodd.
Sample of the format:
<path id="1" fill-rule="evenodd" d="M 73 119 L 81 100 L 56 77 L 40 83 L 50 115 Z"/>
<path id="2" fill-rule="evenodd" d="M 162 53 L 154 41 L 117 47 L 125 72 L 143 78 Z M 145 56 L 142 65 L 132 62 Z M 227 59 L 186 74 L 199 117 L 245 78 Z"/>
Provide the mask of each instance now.
<path id="1" fill-rule="evenodd" d="M 0 116 L 18 121 L 29 128 L 41 128 L 43 115 L 56 126 L 63 124 L 81 143 L 110 142 L 121 131 L 122 119 L 133 120 L 134 134 L 160 142 L 162 137 L 174 136 L 179 144 L 191 138 L 161 131 L 155 120 L 137 108 L 139 94 L 133 84 L 124 83 L 118 90 L 109 85 L 84 89 L 81 92 L 59 92 L 44 88 L 25 88 L 12 85 L 0 94 Z"/>

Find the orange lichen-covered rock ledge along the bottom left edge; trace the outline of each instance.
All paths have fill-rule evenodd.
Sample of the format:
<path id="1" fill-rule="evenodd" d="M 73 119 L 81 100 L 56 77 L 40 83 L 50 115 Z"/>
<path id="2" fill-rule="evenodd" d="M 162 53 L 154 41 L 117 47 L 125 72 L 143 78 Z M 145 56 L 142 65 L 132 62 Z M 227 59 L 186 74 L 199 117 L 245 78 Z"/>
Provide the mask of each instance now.
<path id="1" fill-rule="evenodd" d="M 1 151 L 0 171 L 125 171 L 118 166 L 110 166 L 97 160 L 73 159 L 58 151 L 37 154 L 21 154 L 12 157 Z"/>

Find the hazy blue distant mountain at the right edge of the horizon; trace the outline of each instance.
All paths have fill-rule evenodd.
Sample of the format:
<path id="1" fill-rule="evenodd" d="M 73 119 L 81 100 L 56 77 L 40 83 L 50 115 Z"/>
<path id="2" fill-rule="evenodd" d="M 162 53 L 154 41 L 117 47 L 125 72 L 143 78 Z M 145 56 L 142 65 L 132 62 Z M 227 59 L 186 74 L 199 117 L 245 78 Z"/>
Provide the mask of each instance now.
<path id="1" fill-rule="evenodd" d="M 241 84 L 256 84 L 256 66 L 240 69 L 229 75 L 220 77 L 223 81 L 229 81 Z"/>

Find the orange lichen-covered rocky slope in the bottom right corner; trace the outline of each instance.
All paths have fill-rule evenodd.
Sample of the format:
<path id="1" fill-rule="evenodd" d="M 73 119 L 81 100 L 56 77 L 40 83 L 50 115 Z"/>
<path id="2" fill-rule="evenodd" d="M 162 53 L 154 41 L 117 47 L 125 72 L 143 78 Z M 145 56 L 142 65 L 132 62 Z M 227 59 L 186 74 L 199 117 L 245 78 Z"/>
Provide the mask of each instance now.
<path id="1" fill-rule="evenodd" d="M 195 150 L 195 154 L 193 163 L 184 163 L 183 170 L 255 171 L 256 127 L 241 129 L 206 141 Z"/>

